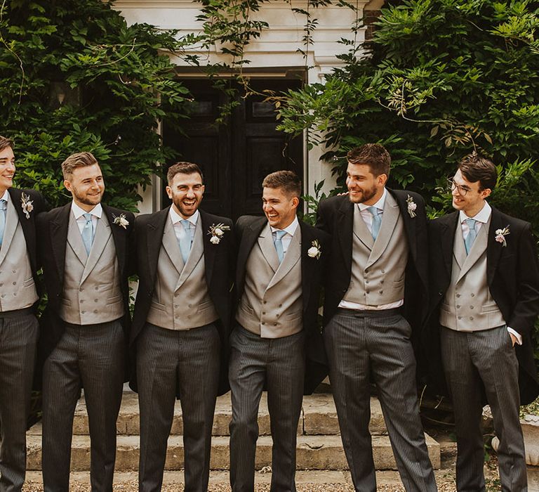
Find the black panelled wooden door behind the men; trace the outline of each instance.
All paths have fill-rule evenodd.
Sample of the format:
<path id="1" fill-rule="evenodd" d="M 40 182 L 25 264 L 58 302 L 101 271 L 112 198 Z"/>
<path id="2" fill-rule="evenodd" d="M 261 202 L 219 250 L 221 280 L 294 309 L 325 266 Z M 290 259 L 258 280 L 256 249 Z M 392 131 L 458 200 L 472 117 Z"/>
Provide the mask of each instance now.
<path id="1" fill-rule="evenodd" d="M 275 106 L 264 101 L 264 90 L 276 92 L 298 88 L 300 81 L 257 79 L 257 93 L 235 97 L 225 124 L 215 124 L 220 107 L 231 101 L 207 80 L 187 80 L 194 96 L 192 115 L 185 134 L 164 122 L 164 144 L 180 154 L 179 160 L 199 164 L 206 190 L 201 208 L 236 220 L 240 215 L 262 214 L 262 179 L 279 169 L 303 174 L 303 141 L 277 131 Z M 237 91 L 241 94 L 241 91 Z M 172 164 L 171 162 L 168 163 Z M 170 203 L 163 195 L 164 207 Z"/>

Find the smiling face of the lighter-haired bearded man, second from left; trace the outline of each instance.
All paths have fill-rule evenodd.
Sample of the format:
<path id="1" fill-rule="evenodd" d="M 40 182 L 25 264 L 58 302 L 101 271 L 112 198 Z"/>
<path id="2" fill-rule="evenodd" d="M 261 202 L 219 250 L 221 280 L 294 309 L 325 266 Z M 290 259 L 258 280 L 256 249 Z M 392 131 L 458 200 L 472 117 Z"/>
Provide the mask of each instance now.
<path id="1" fill-rule="evenodd" d="M 86 212 L 98 205 L 105 193 L 105 181 L 99 164 L 75 167 L 64 180 L 64 186 L 71 192 L 76 205 Z"/>

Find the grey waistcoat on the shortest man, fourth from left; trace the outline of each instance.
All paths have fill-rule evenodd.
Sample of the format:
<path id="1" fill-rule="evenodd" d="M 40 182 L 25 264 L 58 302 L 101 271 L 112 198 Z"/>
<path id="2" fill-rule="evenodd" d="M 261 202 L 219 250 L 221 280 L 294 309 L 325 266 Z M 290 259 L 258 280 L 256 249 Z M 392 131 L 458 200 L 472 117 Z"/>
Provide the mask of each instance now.
<path id="1" fill-rule="evenodd" d="M 288 337 L 303 329 L 302 309 L 300 226 L 279 264 L 267 224 L 247 259 L 236 320 L 262 338 Z"/>

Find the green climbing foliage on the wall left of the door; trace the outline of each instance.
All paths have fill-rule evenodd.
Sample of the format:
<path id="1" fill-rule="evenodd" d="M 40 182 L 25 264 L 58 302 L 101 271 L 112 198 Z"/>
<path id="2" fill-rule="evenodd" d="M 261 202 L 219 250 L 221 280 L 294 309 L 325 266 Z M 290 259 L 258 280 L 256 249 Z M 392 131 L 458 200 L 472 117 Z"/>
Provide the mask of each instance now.
<path id="1" fill-rule="evenodd" d="M 180 125 L 189 96 L 167 52 L 192 41 L 128 27 L 111 1 L 6 0 L 0 11 L 0 134 L 15 140 L 18 186 L 68 199 L 60 164 L 91 151 L 110 205 L 135 210 L 161 148 L 157 122 Z"/>

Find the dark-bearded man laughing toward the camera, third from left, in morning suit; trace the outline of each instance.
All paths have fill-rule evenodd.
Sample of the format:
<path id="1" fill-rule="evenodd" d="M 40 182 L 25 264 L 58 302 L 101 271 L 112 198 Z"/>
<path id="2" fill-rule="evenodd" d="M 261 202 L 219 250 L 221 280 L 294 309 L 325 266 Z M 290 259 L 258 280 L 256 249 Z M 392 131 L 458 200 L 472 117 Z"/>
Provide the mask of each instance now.
<path id="1" fill-rule="evenodd" d="M 138 216 L 135 226 L 131 387 L 140 406 L 139 490 L 161 490 L 178 396 L 185 491 L 205 492 L 215 399 L 228 389 L 232 221 L 199 210 L 204 181 L 197 164 L 173 164 L 167 180 L 172 206 Z"/>

